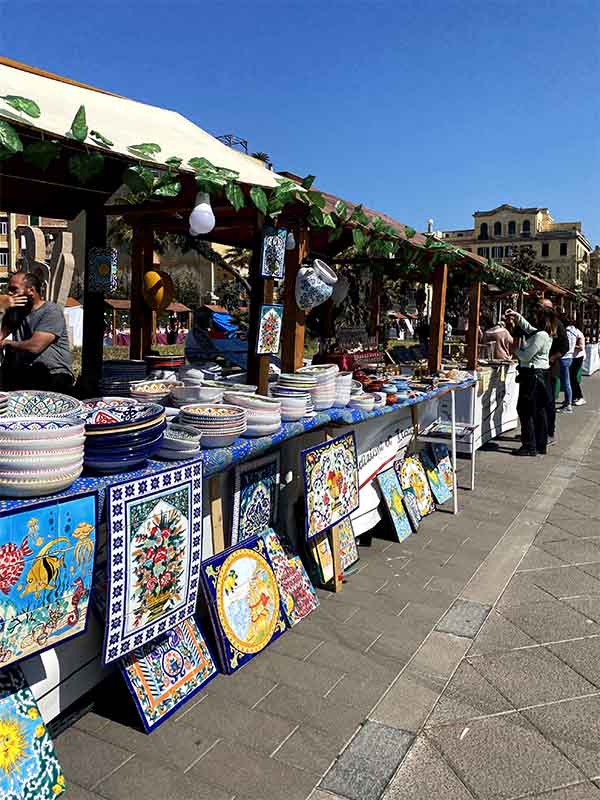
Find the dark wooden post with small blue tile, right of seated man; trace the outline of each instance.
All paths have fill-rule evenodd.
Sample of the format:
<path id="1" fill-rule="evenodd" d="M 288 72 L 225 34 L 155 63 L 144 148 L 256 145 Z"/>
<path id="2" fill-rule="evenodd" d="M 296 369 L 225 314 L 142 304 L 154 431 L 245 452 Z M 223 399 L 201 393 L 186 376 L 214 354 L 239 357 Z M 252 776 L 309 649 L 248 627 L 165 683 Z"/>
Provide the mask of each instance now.
<path id="1" fill-rule="evenodd" d="M 104 295 L 88 292 L 88 254 L 92 247 L 106 247 L 106 217 L 102 206 L 85 212 L 85 277 L 83 290 L 83 345 L 81 348 L 81 393 L 83 397 L 98 394 L 102 376 L 104 347 Z"/>

